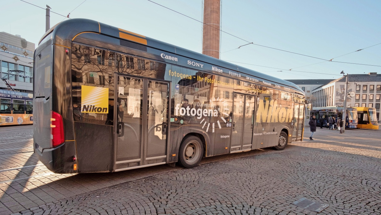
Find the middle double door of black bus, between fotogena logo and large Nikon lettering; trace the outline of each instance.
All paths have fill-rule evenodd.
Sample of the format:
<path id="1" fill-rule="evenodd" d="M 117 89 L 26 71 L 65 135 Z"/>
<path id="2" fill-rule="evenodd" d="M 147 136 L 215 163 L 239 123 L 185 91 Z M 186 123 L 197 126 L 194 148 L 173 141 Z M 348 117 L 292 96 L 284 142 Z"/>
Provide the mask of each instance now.
<path id="1" fill-rule="evenodd" d="M 234 93 L 230 152 L 251 149 L 255 97 Z"/>

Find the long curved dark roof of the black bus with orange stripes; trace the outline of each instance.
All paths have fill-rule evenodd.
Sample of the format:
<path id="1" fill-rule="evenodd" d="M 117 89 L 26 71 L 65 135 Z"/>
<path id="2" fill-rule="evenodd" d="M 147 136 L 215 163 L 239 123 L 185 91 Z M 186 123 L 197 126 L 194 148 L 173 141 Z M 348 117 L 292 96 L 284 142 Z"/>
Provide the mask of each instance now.
<path id="1" fill-rule="evenodd" d="M 90 19 L 69 19 L 61 23 L 58 23 L 55 26 L 53 26 L 49 31 L 45 32 L 39 44 L 51 32 L 53 32 L 52 42 L 56 45 L 71 47 L 71 42 L 75 40 L 75 37 L 82 33 L 96 33 L 101 35 L 107 35 L 121 40 L 132 41 L 133 45 L 130 45 L 130 48 L 135 47 L 138 50 L 140 49 L 140 51 L 142 52 L 144 52 L 144 47 L 150 47 L 159 51 L 170 53 L 171 55 L 173 55 L 171 57 L 176 57 L 176 61 L 168 61 L 162 59 L 163 57 L 160 58 L 160 60 L 168 63 L 173 63 L 176 65 L 192 68 L 203 72 L 223 75 L 230 78 L 241 79 L 242 81 L 254 83 L 258 82 L 264 86 L 269 86 L 275 89 L 305 95 L 304 91 L 292 82 L 275 78 L 267 74 L 259 73 L 254 70 L 249 70 L 242 66 L 227 63 L 223 60 L 203 55 L 201 53 L 193 52 L 191 50 L 187 50 L 176 45 L 161 42 L 159 40 L 145 37 L 140 34 L 126 31 L 117 27 L 109 26 L 107 24 L 99 23 Z M 122 43 L 120 45 L 122 45 Z M 143 50 L 139 47 L 143 47 Z M 145 52 L 147 52 L 147 48 L 145 49 Z M 159 53 L 158 55 L 160 55 L 160 52 L 157 53 Z M 167 55 L 166 53 L 165 55 Z M 195 63 L 200 63 L 199 65 L 202 65 L 202 68 L 200 66 L 192 67 L 190 63 L 193 64 L 193 60 L 198 61 Z"/>

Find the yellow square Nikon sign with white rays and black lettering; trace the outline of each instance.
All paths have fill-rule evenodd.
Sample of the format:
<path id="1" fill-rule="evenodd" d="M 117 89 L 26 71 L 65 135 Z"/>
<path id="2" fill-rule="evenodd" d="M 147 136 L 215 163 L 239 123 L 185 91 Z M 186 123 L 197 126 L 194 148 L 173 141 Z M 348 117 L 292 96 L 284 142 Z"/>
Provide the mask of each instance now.
<path id="1" fill-rule="evenodd" d="M 109 88 L 82 85 L 82 113 L 109 113 Z"/>

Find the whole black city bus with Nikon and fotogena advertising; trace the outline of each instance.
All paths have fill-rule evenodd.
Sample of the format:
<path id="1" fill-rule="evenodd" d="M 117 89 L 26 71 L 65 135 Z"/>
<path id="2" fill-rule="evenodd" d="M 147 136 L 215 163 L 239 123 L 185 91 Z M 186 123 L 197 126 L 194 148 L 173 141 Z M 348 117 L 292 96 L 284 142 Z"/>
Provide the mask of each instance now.
<path id="1" fill-rule="evenodd" d="M 303 138 L 295 84 L 117 27 L 64 21 L 34 57 L 34 151 L 54 173 L 192 168 Z"/>

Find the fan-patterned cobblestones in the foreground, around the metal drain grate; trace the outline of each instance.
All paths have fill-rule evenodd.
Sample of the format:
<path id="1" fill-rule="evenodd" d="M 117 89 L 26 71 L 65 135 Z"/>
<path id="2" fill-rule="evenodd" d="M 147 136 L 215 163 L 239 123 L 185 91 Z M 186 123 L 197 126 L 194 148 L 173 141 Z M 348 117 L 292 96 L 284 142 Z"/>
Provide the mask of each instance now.
<path id="1" fill-rule="evenodd" d="M 291 203 L 329 204 L 320 214 L 380 214 L 374 157 L 309 149 L 256 155 L 149 176 L 26 210 L 33 214 L 317 214 Z"/>

